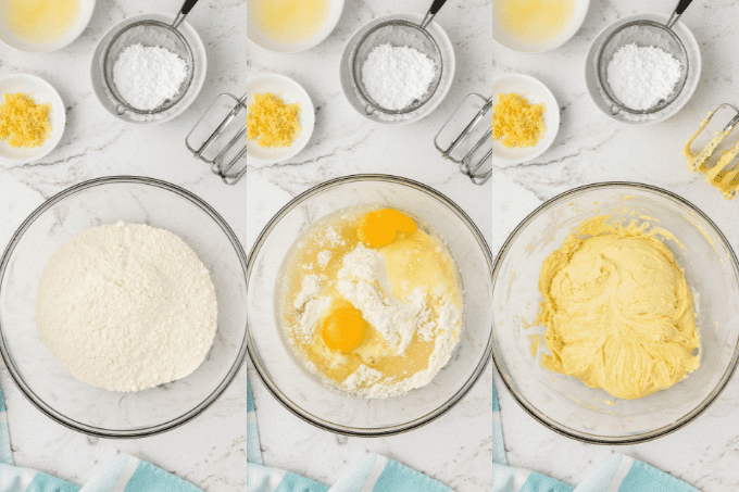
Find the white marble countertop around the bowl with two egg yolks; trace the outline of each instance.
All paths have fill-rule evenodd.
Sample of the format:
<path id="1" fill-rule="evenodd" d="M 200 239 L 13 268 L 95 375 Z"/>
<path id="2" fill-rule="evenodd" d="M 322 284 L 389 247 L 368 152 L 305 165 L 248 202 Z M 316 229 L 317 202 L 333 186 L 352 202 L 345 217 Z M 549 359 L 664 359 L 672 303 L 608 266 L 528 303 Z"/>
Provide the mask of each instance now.
<path id="1" fill-rule="evenodd" d="M 316 127 L 306 149 L 289 162 L 249 167 L 247 245 L 291 198 L 327 179 L 358 173 L 404 176 L 446 193 L 490 237 L 491 186 L 476 187 L 444 161 L 434 137 L 468 92 L 490 87 L 491 1 L 449 1 L 436 17 L 454 45 L 456 75 L 437 110 L 412 125 L 389 127 L 354 112 L 341 93 L 338 65 L 345 43 L 372 18 L 425 13 L 427 0 L 350 0 L 331 36 L 299 54 L 248 46 L 249 76 L 274 72 L 295 78 L 313 99 Z M 412 432 L 384 439 L 335 436 L 295 417 L 266 391 L 251 364 L 256 420 L 265 465 L 331 484 L 347 464 L 375 452 L 441 480 L 456 491 L 490 490 L 492 480 L 492 367 L 448 415 Z"/>

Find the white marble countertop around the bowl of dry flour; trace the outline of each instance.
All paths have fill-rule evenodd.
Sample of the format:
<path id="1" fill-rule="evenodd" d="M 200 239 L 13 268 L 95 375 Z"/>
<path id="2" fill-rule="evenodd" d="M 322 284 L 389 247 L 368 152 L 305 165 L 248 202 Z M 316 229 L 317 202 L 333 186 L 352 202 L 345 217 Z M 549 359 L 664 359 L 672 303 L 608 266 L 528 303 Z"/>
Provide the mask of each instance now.
<path id="1" fill-rule="evenodd" d="M 205 43 L 209 73 L 193 105 L 177 119 L 134 127 L 108 114 L 90 85 L 90 58 L 113 24 L 145 12 L 176 13 L 181 2 L 99 1 L 89 27 L 59 52 L 27 54 L 0 46 L 0 76 L 30 73 L 52 84 L 67 109 L 61 144 L 42 161 L 0 164 L 0 244 L 52 194 L 86 179 L 142 175 L 179 185 L 212 204 L 246 242 L 246 184 L 227 187 L 196 161 L 185 137 L 221 92 L 246 90 L 246 0 L 201 0 L 188 22 Z M 93 439 L 37 411 L 16 389 L 4 365 L 0 383 L 15 464 L 82 484 L 96 466 L 124 452 L 149 461 L 206 491 L 246 490 L 247 373 L 203 415 L 171 432 L 139 440 Z"/>

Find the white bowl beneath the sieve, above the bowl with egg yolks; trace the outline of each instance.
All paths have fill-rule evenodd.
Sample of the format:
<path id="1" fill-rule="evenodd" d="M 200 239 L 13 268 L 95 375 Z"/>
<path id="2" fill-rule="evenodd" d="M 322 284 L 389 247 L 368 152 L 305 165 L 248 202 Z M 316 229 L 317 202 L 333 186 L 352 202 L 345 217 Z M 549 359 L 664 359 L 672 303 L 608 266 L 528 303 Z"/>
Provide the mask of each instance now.
<path id="1" fill-rule="evenodd" d="M 456 58 L 454 56 L 454 45 L 452 45 L 452 41 L 449 39 L 449 36 L 447 36 L 447 33 L 444 33 L 444 30 L 441 28 L 439 24 L 437 24 L 436 22 L 431 22 L 428 25 L 427 30 L 434 37 L 436 42 L 439 45 L 439 49 L 441 50 L 441 63 L 443 63 L 443 73 L 441 75 L 441 81 L 439 83 L 439 87 L 437 87 L 436 89 L 436 93 L 431 96 L 431 99 L 429 99 L 426 102 L 426 104 L 408 114 L 386 115 L 380 114 L 378 112 L 367 114 L 367 112 L 365 111 L 366 110 L 365 103 L 356 93 L 356 89 L 352 85 L 351 53 L 356 43 L 359 42 L 360 38 L 364 35 L 364 33 L 366 33 L 377 24 L 393 18 L 401 18 L 403 21 L 411 21 L 415 24 L 421 24 L 424 16 L 413 12 L 388 14 L 374 18 L 373 21 L 362 26 L 356 33 L 352 35 L 352 37 L 347 42 L 347 46 L 345 46 L 343 48 L 343 53 L 341 54 L 341 65 L 339 67 L 339 77 L 341 81 L 341 91 L 343 92 L 343 96 L 347 98 L 347 101 L 349 101 L 349 104 L 359 114 L 369 119 L 371 122 L 381 123 L 384 125 L 408 125 L 409 123 L 415 123 L 418 119 L 424 118 L 431 114 L 431 112 L 434 112 L 434 110 L 436 110 L 439 106 L 439 104 L 441 104 L 441 101 L 444 100 L 444 98 L 449 93 L 449 89 L 451 89 L 452 87 L 452 83 L 454 81 L 454 72 L 456 71 Z"/>

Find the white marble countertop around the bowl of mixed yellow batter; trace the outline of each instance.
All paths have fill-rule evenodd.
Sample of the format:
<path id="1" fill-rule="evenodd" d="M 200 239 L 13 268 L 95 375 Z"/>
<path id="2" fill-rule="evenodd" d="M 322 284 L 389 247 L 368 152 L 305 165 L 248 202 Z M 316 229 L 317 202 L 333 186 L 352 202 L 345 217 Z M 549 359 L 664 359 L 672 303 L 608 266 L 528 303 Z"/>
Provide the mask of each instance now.
<path id="1" fill-rule="evenodd" d="M 677 2 L 592 1 L 580 31 L 560 49 L 519 54 L 496 46 L 493 75 L 522 72 L 543 81 L 562 109 L 562 126 L 552 148 L 534 163 L 498 169 L 492 176 L 493 235 L 497 251 L 534 207 L 567 189 L 597 181 L 629 180 L 673 191 L 705 212 L 739 250 L 737 201 L 726 201 L 699 174 L 691 174 L 682 146 L 709 111 L 722 102 L 739 103 L 739 4 L 694 1 L 682 22 L 698 39 L 703 56 L 700 85 L 673 118 L 652 126 L 624 126 L 600 113 L 585 87 L 584 59 L 598 33 L 615 20 L 649 9 L 669 13 Z M 496 375 L 509 463 L 577 484 L 612 452 L 641 459 L 701 491 L 739 490 L 739 379 L 684 429 L 631 446 L 588 445 L 539 425 L 512 399 Z"/>

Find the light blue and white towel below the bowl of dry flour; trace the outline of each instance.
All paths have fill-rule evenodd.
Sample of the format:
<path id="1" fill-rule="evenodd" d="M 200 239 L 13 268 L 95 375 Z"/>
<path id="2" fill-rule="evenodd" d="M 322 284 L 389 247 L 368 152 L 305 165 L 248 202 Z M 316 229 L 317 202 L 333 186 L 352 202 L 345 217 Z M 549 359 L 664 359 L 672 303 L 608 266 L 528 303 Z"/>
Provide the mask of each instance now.
<path id="1" fill-rule="evenodd" d="M 249 437 L 248 437 L 249 438 Z M 256 445 L 259 451 L 259 444 Z M 316 489 L 317 490 L 317 489 Z M 139 458 L 121 454 L 82 488 L 41 471 L 13 465 L 5 402 L 0 388 L 0 492 L 203 492 Z"/>

